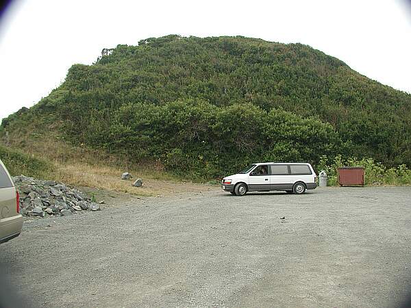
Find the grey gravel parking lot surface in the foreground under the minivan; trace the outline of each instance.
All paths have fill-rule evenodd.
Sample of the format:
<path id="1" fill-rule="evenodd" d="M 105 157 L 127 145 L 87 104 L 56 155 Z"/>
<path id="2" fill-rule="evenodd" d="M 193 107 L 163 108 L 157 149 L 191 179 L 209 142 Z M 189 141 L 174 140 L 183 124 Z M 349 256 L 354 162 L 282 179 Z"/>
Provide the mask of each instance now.
<path id="1" fill-rule="evenodd" d="M 395 307 L 411 188 L 129 200 L 25 223 L 0 265 L 34 307 Z"/>

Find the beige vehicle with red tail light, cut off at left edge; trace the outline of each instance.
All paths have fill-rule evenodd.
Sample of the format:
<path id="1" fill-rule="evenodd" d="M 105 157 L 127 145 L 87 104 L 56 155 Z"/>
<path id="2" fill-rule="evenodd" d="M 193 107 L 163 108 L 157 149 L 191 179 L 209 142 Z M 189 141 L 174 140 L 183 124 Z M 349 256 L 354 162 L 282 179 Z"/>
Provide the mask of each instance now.
<path id="1" fill-rule="evenodd" d="M 16 238 L 22 227 L 18 192 L 0 159 L 0 243 Z"/>

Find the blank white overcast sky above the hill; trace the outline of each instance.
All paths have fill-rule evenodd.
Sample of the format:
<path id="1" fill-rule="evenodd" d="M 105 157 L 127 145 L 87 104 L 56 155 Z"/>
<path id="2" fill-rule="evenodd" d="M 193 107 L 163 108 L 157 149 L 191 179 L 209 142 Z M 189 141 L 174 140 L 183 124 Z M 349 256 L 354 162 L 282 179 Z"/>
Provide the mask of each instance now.
<path id="1" fill-rule="evenodd" d="M 59 86 L 72 64 L 149 37 L 301 42 L 411 92 L 411 11 L 395 1 L 14 1 L 0 22 L 0 119 Z"/>

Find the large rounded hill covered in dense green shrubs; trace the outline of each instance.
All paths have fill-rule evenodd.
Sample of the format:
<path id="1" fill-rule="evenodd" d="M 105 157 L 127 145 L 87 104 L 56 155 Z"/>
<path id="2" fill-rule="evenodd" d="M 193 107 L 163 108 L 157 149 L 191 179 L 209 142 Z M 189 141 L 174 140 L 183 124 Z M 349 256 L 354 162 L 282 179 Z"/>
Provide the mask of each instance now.
<path id="1" fill-rule="evenodd" d="M 411 95 L 306 45 L 165 36 L 110 52 L 3 119 L 13 146 L 53 131 L 194 179 L 322 155 L 411 166 Z"/>

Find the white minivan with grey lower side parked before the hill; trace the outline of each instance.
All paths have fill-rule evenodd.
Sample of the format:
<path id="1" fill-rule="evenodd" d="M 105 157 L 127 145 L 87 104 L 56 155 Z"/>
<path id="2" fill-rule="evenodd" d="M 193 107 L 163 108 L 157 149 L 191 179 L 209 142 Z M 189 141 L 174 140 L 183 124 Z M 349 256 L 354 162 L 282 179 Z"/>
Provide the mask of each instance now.
<path id="1" fill-rule="evenodd" d="M 270 190 L 303 194 L 316 188 L 316 173 L 308 163 L 257 163 L 225 177 L 221 183 L 223 190 L 237 196 Z"/>

